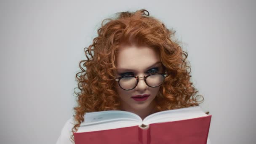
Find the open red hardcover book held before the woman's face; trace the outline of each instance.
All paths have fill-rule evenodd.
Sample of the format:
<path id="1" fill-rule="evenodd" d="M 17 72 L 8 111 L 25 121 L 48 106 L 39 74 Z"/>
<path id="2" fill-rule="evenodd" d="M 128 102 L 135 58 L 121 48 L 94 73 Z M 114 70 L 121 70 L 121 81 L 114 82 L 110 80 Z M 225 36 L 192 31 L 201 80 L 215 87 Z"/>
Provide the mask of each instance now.
<path id="1" fill-rule="evenodd" d="M 206 144 L 211 122 L 197 107 L 156 112 L 141 119 L 126 111 L 88 112 L 75 144 Z"/>

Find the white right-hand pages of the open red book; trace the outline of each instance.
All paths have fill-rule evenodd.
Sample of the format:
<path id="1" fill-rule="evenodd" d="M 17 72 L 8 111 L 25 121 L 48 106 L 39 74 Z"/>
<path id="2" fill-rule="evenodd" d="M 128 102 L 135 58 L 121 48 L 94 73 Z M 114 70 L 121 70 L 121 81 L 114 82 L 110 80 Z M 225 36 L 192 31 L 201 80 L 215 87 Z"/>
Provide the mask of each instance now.
<path id="1" fill-rule="evenodd" d="M 143 120 L 144 125 L 149 125 L 151 123 L 163 123 L 163 122 L 171 122 L 177 120 L 187 120 L 196 117 L 207 116 L 200 108 L 200 106 L 196 107 L 186 107 L 181 109 L 173 109 L 166 110 L 162 112 L 157 112 L 152 115 L 147 116 Z"/>

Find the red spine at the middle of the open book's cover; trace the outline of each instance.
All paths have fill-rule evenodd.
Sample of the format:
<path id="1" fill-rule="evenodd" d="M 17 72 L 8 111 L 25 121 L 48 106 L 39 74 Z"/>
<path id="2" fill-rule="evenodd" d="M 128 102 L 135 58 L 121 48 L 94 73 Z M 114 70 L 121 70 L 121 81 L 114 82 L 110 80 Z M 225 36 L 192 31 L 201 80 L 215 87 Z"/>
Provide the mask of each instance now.
<path id="1" fill-rule="evenodd" d="M 139 128 L 139 142 L 140 144 L 150 144 L 150 126 L 148 128 Z"/>

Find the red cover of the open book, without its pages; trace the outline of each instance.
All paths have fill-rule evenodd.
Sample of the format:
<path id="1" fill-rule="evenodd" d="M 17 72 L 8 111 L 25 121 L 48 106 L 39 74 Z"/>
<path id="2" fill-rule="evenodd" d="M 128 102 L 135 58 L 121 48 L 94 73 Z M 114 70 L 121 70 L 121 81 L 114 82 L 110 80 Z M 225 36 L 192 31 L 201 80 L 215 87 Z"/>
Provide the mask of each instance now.
<path id="1" fill-rule="evenodd" d="M 206 144 L 211 115 L 187 120 L 74 133 L 75 144 Z"/>

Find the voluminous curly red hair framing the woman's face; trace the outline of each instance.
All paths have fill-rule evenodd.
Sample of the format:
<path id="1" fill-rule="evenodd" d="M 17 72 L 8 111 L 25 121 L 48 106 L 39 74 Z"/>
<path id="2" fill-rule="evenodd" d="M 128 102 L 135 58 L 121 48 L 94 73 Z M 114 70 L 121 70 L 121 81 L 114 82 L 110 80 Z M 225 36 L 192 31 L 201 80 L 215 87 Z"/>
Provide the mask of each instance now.
<path id="1" fill-rule="evenodd" d="M 105 22 L 107 21 L 107 22 Z M 181 50 L 178 41 L 172 40 L 174 31 L 159 20 L 149 16 L 146 10 L 134 13 L 121 12 L 115 19 L 105 19 L 98 29 L 98 37 L 85 48 L 87 60 L 80 61 L 81 71 L 76 74 L 79 92 L 74 107 L 76 132 L 84 121 L 86 112 L 119 110 L 120 99 L 115 91 L 115 57 L 123 44 L 146 45 L 160 52 L 160 59 L 168 73 L 157 94 L 156 110 L 163 111 L 196 106 L 200 102 L 198 92 L 190 82 L 191 68 L 187 52 Z M 74 140 L 74 136 L 71 136 Z"/>

